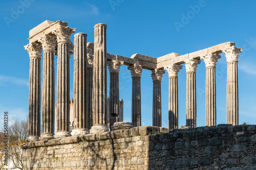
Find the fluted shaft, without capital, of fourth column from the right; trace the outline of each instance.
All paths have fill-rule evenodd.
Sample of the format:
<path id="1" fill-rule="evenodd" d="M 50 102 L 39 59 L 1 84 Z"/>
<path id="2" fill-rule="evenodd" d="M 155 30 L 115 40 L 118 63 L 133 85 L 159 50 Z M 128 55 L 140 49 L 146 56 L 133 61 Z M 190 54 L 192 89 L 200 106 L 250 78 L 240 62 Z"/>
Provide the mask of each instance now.
<path id="1" fill-rule="evenodd" d="M 169 77 L 169 129 L 178 129 L 178 77 Z"/>

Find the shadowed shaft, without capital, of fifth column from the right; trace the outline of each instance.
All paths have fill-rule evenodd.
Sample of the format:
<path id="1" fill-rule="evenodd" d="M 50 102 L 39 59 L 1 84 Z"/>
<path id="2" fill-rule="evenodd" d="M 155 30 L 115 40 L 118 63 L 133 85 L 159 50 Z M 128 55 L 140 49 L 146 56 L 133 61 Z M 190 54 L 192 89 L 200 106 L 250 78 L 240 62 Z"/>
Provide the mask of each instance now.
<path id="1" fill-rule="evenodd" d="M 153 81 L 153 126 L 162 126 L 161 81 Z"/>

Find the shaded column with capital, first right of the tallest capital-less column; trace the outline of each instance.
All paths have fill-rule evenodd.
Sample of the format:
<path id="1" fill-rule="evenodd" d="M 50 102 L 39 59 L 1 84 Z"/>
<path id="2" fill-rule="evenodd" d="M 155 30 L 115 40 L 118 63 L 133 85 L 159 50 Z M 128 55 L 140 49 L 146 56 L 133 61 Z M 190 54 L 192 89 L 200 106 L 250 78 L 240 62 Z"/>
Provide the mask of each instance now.
<path id="1" fill-rule="evenodd" d="M 119 122 L 119 70 L 123 61 L 111 60 L 107 62 L 110 71 L 110 127 Z"/>

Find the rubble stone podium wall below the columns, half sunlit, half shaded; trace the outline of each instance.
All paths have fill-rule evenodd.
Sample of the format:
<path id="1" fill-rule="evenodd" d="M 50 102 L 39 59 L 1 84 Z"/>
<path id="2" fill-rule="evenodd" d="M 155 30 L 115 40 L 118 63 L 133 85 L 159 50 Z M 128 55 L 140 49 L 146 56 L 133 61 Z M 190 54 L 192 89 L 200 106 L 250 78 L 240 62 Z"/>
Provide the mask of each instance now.
<path id="1" fill-rule="evenodd" d="M 256 169 L 255 125 L 135 127 L 29 142 L 24 169 Z"/>

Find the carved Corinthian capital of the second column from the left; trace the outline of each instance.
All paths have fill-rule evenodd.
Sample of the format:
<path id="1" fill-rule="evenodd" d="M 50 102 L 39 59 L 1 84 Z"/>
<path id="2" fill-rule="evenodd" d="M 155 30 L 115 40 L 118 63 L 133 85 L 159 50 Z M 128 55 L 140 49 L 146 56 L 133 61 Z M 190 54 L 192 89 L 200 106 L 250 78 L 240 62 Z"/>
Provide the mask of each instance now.
<path id="1" fill-rule="evenodd" d="M 55 45 L 56 45 L 56 38 L 45 34 L 41 36 L 40 38 L 37 38 L 38 42 L 42 44 L 42 50 L 43 51 L 51 51 L 54 52 Z"/>

